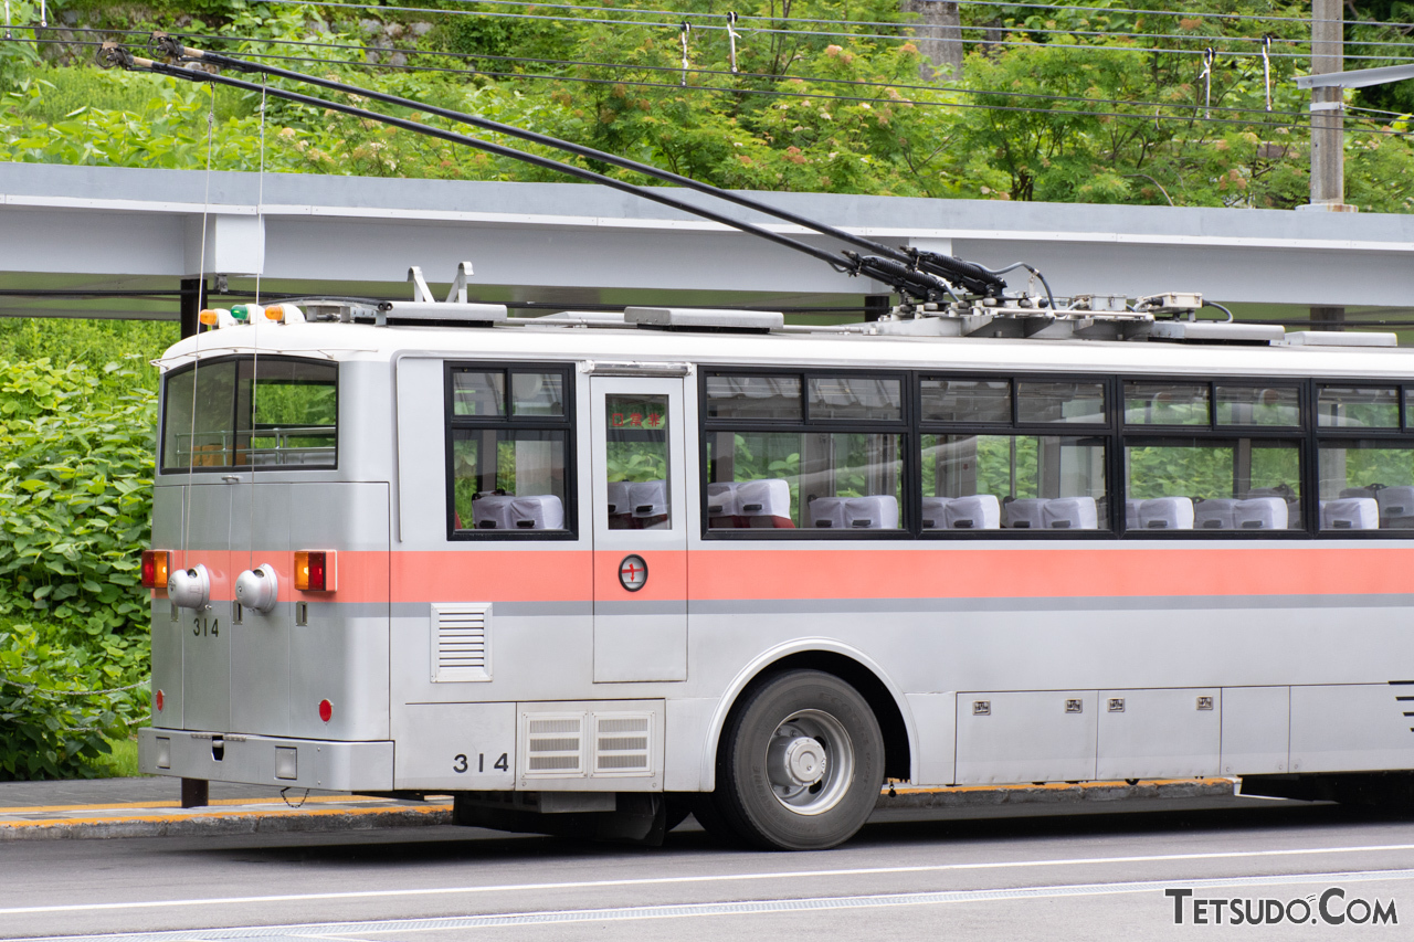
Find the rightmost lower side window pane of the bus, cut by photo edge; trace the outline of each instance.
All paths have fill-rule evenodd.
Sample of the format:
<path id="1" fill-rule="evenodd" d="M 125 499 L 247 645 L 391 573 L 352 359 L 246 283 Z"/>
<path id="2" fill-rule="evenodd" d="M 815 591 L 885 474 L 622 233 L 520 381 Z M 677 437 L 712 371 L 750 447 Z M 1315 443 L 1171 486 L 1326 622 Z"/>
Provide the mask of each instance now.
<path id="1" fill-rule="evenodd" d="M 1414 447 L 1348 438 L 1319 448 L 1322 530 L 1414 529 Z"/>

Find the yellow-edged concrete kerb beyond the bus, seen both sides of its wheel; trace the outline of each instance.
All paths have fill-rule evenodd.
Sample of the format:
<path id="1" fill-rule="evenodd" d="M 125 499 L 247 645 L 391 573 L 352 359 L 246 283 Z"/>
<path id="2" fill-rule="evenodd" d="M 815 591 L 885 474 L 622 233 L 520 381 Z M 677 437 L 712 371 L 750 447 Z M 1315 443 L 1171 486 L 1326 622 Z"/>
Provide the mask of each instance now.
<path id="1" fill-rule="evenodd" d="M 1000 808 L 1005 805 L 1068 805 L 1128 802 L 1158 798 L 1227 798 L 1234 779 L 1172 779 L 1086 782 L 1083 785 L 1003 785 L 962 788 L 895 786 L 880 795 L 875 810 L 939 810 L 952 808 Z M 124 815 L 124 810 L 134 813 Z M 157 809 L 139 806 L 75 808 L 69 816 L 0 816 L 0 840 L 81 840 L 110 837 L 215 837 L 225 835 L 320 833 L 376 830 L 383 827 L 430 827 L 450 825 L 451 803 L 399 808 L 279 808 L 249 805 L 219 810 Z"/>

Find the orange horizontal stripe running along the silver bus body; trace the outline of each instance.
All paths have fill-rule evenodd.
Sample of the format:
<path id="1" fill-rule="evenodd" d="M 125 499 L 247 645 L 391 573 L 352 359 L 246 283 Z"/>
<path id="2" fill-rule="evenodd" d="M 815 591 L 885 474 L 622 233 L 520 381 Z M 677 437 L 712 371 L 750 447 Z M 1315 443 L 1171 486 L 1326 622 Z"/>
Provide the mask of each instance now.
<path id="1" fill-rule="evenodd" d="M 1168 549 L 839 549 L 641 550 L 649 580 L 618 581 L 626 552 L 433 550 L 338 553 L 338 591 L 294 593 L 293 553 L 192 552 L 212 600 L 233 598 L 250 560 L 269 562 L 281 595 L 334 603 L 697 601 L 752 598 L 1104 598 L 1145 595 L 1386 595 L 1414 593 L 1414 546 Z M 686 593 L 684 593 L 686 584 Z M 290 594 L 286 594 L 290 586 Z"/>

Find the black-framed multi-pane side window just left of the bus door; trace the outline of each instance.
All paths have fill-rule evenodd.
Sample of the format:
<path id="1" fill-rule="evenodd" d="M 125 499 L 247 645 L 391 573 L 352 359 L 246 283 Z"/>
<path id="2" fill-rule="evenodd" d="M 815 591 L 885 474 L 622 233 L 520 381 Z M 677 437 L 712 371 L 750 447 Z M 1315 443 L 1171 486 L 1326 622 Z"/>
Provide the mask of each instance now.
<path id="1" fill-rule="evenodd" d="M 467 539 L 571 535 L 568 372 L 450 366 L 448 385 L 451 529 Z"/>

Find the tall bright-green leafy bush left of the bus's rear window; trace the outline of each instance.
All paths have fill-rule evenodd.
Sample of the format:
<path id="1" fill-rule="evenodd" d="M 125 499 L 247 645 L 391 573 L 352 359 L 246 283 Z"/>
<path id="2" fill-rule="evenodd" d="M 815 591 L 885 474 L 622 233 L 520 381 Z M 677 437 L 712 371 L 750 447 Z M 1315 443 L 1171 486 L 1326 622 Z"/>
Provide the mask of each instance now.
<path id="1" fill-rule="evenodd" d="M 120 364 L 106 373 L 136 378 Z M 100 638 L 141 629 L 157 397 L 82 365 L 0 361 L 0 617 Z"/>

